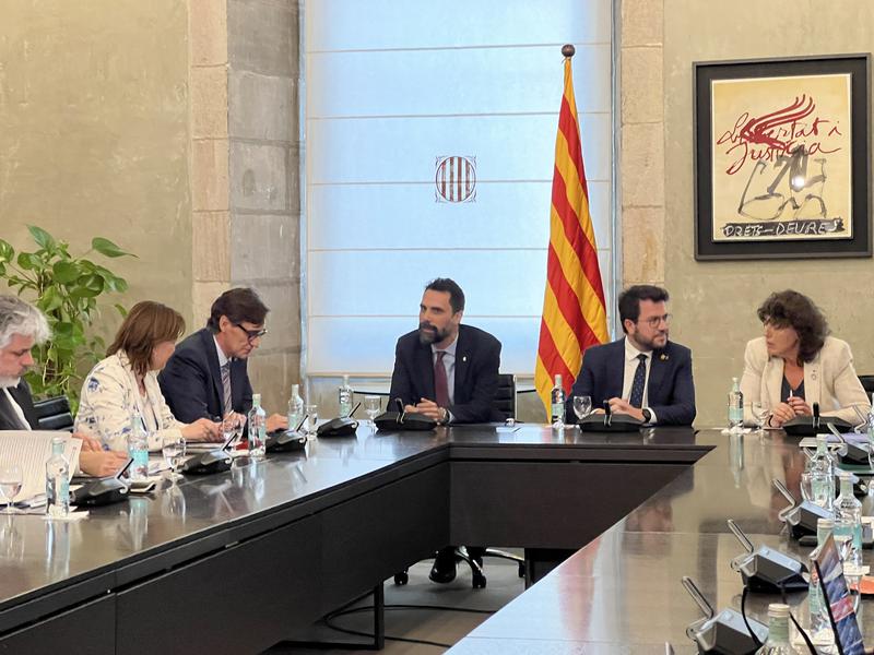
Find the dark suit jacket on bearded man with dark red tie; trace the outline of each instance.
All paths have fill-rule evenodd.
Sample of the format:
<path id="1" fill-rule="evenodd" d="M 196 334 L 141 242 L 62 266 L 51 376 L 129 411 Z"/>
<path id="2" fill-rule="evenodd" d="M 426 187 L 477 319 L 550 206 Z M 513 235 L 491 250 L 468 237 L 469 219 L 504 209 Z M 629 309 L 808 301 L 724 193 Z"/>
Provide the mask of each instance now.
<path id="1" fill-rule="evenodd" d="M 447 407 L 454 422 L 487 422 L 503 420 L 493 406 L 498 389 L 500 342 L 473 327 L 459 325 L 456 346 L 454 403 Z M 418 330 L 398 340 L 394 349 L 394 372 L 391 374 L 391 404 L 401 398 L 404 405 L 415 405 L 421 398 L 434 400 L 434 356 L 430 345 L 418 341 Z"/>

